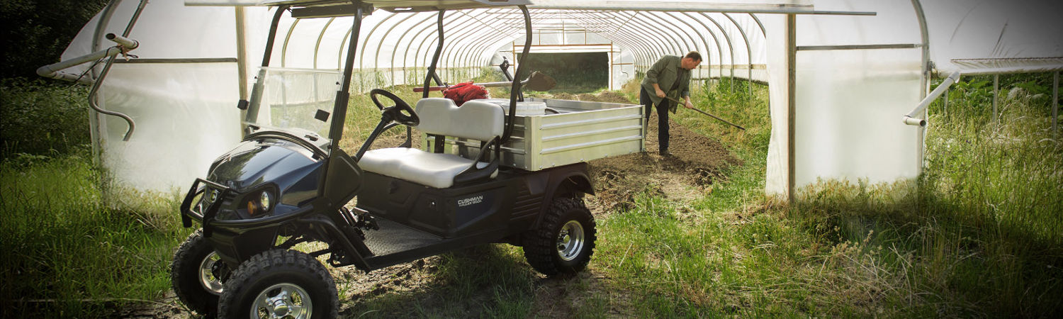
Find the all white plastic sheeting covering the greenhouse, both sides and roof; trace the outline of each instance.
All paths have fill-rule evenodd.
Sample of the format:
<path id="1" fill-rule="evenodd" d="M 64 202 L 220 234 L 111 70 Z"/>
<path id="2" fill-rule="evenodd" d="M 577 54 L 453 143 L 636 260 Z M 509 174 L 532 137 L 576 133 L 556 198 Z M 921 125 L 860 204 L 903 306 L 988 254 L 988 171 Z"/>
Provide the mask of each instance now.
<path id="1" fill-rule="evenodd" d="M 138 1 L 119 1 L 99 32 L 86 24 L 64 53 L 74 56 L 100 46 L 106 32 L 120 33 Z M 197 0 L 246 5 L 250 0 Z M 601 50 L 611 45 L 614 87 L 644 71 L 663 54 L 699 51 L 695 78 L 750 78 L 770 83 L 772 140 L 766 190 L 786 194 L 816 179 L 891 182 L 911 178 L 922 165 L 918 128 L 898 120 L 926 87 L 921 74 L 918 20 L 910 0 L 890 1 L 533 1 L 534 40 L 539 50 Z M 1014 3 L 1014 4 L 1013 4 Z M 1048 1 L 925 1 L 930 56 L 940 70 L 967 72 L 1050 70 L 1061 66 L 1063 24 Z M 243 45 L 237 56 L 236 10 L 244 11 Z M 875 12 L 877 16 L 813 15 L 813 12 Z M 787 16 L 797 14 L 793 101 L 790 100 Z M 260 64 L 272 10 L 182 6 L 152 1 L 131 38 L 148 58 L 241 58 L 253 81 Z M 353 89 L 423 83 L 436 48 L 437 13 L 376 11 L 361 27 Z M 98 17 L 99 19 L 99 17 Z M 351 36 L 350 17 L 296 20 L 284 15 L 272 67 L 336 70 Z M 523 45 L 516 9 L 449 11 L 439 74 L 463 82 Z M 94 41 L 94 38 L 97 40 Z M 94 43 L 100 45 L 94 48 Z M 887 48 L 862 46 L 889 45 Z M 848 46 L 842 48 L 840 46 Z M 104 82 L 103 107 L 137 120 L 133 140 L 122 142 L 124 122 L 101 117 L 104 165 L 142 189 L 185 187 L 202 177 L 215 155 L 239 138 L 240 95 L 236 63 L 137 63 L 116 65 Z M 84 70 L 82 68 L 81 70 Z M 79 70 L 73 70 L 79 71 Z M 792 106 L 791 106 L 792 105 Z M 793 107 L 793 108 L 791 108 Z M 794 115 L 794 149 L 787 115 Z M 789 161 L 793 154 L 793 177 Z M 150 177 L 150 178 L 147 178 Z"/>

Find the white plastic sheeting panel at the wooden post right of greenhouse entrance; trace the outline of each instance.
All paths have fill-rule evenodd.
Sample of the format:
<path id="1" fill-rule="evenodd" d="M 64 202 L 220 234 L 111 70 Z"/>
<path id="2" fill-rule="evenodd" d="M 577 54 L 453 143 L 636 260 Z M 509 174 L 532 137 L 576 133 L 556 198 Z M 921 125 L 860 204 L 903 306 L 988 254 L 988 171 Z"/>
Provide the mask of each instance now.
<path id="1" fill-rule="evenodd" d="M 923 98 L 922 48 L 914 46 L 922 37 L 911 2 L 823 6 L 828 5 L 877 15 L 797 17 L 793 185 L 819 179 L 881 183 L 918 175 L 919 129 L 898 120 Z M 773 115 L 787 112 L 773 100 Z M 769 192 L 787 191 L 781 181 L 788 179 L 788 139 L 779 134 L 787 125 L 783 116 L 773 118 Z"/>

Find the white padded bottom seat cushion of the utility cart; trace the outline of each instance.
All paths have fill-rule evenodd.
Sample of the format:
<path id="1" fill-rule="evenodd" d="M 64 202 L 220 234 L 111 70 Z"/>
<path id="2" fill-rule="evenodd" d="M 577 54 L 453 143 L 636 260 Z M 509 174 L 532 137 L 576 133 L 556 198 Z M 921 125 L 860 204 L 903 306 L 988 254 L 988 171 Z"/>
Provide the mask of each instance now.
<path id="1" fill-rule="evenodd" d="M 358 161 L 365 171 L 436 188 L 454 186 L 454 177 L 472 166 L 473 161 L 453 154 L 428 153 L 418 149 L 388 148 L 366 152 Z M 478 162 L 477 168 L 488 163 Z M 491 177 L 497 174 L 493 172 Z"/>

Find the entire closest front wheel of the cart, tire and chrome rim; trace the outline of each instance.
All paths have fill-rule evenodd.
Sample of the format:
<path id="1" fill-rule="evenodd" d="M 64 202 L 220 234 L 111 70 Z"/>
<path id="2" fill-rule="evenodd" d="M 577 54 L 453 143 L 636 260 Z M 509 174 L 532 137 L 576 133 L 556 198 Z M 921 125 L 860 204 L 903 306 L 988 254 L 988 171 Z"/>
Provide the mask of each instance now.
<path id="1" fill-rule="evenodd" d="M 271 250 L 233 271 L 221 293 L 222 318 L 336 318 L 336 284 L 321 263 L 293 250 Z"/>

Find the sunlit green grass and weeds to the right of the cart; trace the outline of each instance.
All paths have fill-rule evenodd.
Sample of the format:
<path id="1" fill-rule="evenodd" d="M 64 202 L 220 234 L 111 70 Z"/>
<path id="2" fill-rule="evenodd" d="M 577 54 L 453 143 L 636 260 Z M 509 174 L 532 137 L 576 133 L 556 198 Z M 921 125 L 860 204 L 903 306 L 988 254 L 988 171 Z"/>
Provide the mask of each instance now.
<path id="1" fill-rule="evenodd" d="M 749 130 L 678 121 L 746 164 L 709 197 L 644 196 L 605 218 L 592 267 L 610 291 L 637 296 L 640 316 L 1051 317 L 1063 310 L 1063 149 L 1049 99 L 1029 83 L 1002 86 L 999 123 L 977 98 L 992 85 L 959 85 L 971 98 L 930 118 L 916 181 L 824 182 L 793 206 L 762 192 L 764 88 L 752 106 L 726 89 L 695 91 L 699 107 Z"/>

